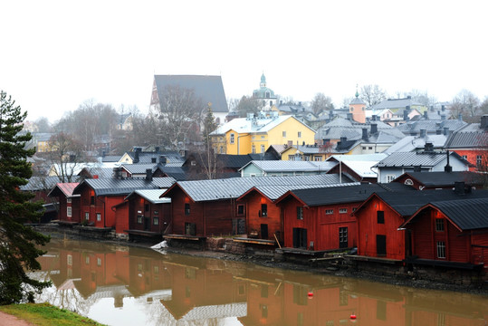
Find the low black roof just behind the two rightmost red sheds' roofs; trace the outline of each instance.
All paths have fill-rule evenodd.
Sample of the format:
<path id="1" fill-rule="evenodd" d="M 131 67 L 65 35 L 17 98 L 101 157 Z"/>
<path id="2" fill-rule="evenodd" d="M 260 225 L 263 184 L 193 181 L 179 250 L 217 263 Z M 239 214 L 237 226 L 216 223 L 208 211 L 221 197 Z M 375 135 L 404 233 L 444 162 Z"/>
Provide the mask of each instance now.
<path id="1" fill-rule="evenodd" d="M 455 172 L 406 172 L 400 177 L 409 176 L 424 186 L 444 187 L 454 186 L 455 182 L 464 182 L 466 185 L 482 185 L 484 178 L 476 172 L 455 171 Z M 398 180 L 400 177 L 397 177 Z"/>

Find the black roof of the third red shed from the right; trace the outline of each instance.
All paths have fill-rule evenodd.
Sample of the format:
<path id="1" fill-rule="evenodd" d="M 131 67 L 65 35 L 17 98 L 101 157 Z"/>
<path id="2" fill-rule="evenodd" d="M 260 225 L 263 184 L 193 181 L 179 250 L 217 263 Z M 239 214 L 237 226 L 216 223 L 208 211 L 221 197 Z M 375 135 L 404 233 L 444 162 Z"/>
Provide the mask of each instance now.
<path id="1" fill-rule="evenodd" d="M 388 186 L 388 187 L 385 187 Z M 402 184 L 366 184 L 349 187 L 321 187 L 292 190 L 292 194 L 300 198 L 307 206 L 321 206 L 340 203 L 354 203 L 366 200 L 375 192 L 403 191 L 415 192 L 412 187 Z"/>

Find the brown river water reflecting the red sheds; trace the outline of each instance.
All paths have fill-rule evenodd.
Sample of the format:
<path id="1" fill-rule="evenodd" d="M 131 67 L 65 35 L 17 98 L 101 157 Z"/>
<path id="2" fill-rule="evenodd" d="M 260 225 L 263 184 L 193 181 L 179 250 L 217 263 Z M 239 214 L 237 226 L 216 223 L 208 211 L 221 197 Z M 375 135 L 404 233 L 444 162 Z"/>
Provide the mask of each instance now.
<path id="1" fill-rule="evenodd" d="M 107 325 L 487 325 L 488 295 L 53 240 L 36 302 Z M 356 317 L 356 318 L 354 318 Z"/>

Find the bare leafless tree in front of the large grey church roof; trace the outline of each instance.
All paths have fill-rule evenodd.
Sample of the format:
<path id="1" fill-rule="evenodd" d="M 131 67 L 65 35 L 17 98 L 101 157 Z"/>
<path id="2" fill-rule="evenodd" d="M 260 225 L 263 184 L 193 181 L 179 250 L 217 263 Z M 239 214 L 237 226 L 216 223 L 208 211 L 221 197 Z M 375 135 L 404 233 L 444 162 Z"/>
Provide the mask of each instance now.
<path id="1" fill-rule="evenodd" d="M 161 92 L 159 104 L 162 136 L 171 147 L 179 149 L 179 144 L 199 136 L 204 105 L 196 98 L 195 91 L 169 85 Z"/>

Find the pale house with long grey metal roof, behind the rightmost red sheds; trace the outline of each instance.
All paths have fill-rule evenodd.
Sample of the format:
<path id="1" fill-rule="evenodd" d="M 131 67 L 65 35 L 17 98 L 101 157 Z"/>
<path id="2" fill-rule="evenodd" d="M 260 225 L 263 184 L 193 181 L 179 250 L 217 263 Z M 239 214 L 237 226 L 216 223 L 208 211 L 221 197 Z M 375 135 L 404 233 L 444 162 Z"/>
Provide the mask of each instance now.
<path id="1" fill-rule="evenodd" d="M 378 168 L 378 182 L 388 183 L 406 172 L 468 171 L 470 164 L 455 152 L 394 152 L 373 168 Z"/>

